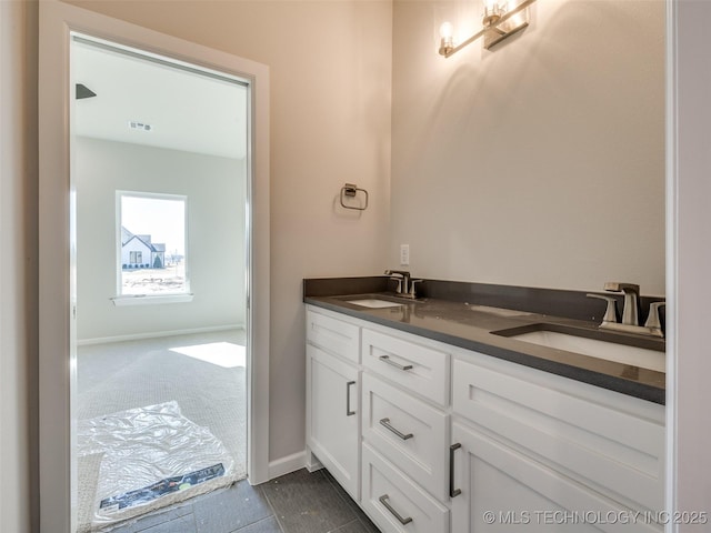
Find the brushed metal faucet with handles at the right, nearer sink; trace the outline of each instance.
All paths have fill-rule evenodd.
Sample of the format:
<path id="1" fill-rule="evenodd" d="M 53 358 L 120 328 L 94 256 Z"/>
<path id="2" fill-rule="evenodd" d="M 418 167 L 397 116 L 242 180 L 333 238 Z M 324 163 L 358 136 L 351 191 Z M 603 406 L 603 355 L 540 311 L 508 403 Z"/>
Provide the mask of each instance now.
<path id="1" fill-rule="evenodd" d="M 614 298 L 603 294 L 587 294 L 589 298 L 597 298 L 608 302 L 600 329 L 624 331 L 642 335 L 664 336 L 661 322 L 659 320 L 659 309 L 665 305 L 664 302 L 654 302 L 650 304 L 647 322 L 644 322 L 644 325 L 639 325 L 640 285 L 612 281 L 604 284 L 604 290 L 608 292 L 623 294 L 624 303 L 622 306 L 622 322 L 619 323 L 617 300 Z"/>

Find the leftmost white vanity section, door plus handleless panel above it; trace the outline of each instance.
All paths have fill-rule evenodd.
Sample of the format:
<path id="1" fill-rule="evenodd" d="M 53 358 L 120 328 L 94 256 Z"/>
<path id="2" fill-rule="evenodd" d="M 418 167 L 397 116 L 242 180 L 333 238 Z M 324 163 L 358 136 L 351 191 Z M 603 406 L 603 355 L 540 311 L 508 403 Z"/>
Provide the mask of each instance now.
<path id="1" fill-rule="evenodd" d="M 360 328 L 307 312 L 307 446 L 360 500 Z"/>

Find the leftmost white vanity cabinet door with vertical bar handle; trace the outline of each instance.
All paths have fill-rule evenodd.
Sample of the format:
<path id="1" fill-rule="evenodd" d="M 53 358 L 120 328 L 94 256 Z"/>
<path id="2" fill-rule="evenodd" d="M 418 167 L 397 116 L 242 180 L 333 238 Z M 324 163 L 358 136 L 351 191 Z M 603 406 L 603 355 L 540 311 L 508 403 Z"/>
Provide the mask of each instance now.
<path id="1" fill-rule="evenodd" d="M 360 500 L 358 369 L 307 344 L 307 441 L 343 489 Z"/>

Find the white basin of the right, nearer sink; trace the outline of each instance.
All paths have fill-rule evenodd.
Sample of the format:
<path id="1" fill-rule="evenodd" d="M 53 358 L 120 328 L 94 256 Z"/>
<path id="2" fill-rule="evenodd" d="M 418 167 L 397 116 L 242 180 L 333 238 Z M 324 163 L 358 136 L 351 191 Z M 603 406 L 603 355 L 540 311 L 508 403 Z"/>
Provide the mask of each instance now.
<path id="1" fill-rule="evenodd" d="M 628 346 L 625 344 L 545 330 L 520 333 L 511 335 L 509 339 L 565 350 L 567 352 L 582 353 L 583 355 L 631 364 L 641 369 L 655 370 L 657 372 L 664 372 L 665 369 L 665 353 L 644 348 Z"/>

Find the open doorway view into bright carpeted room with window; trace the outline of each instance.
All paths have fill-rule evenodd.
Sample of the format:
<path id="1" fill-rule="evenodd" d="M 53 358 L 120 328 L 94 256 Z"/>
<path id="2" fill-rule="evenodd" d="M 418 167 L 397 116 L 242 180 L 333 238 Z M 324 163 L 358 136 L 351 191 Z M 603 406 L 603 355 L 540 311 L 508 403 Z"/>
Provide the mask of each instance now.
<path id="1" fill-rule="evenodd" d="M 91 532 L 247 474 L 249 83 L 80 33 L 70 53 Z"/>

